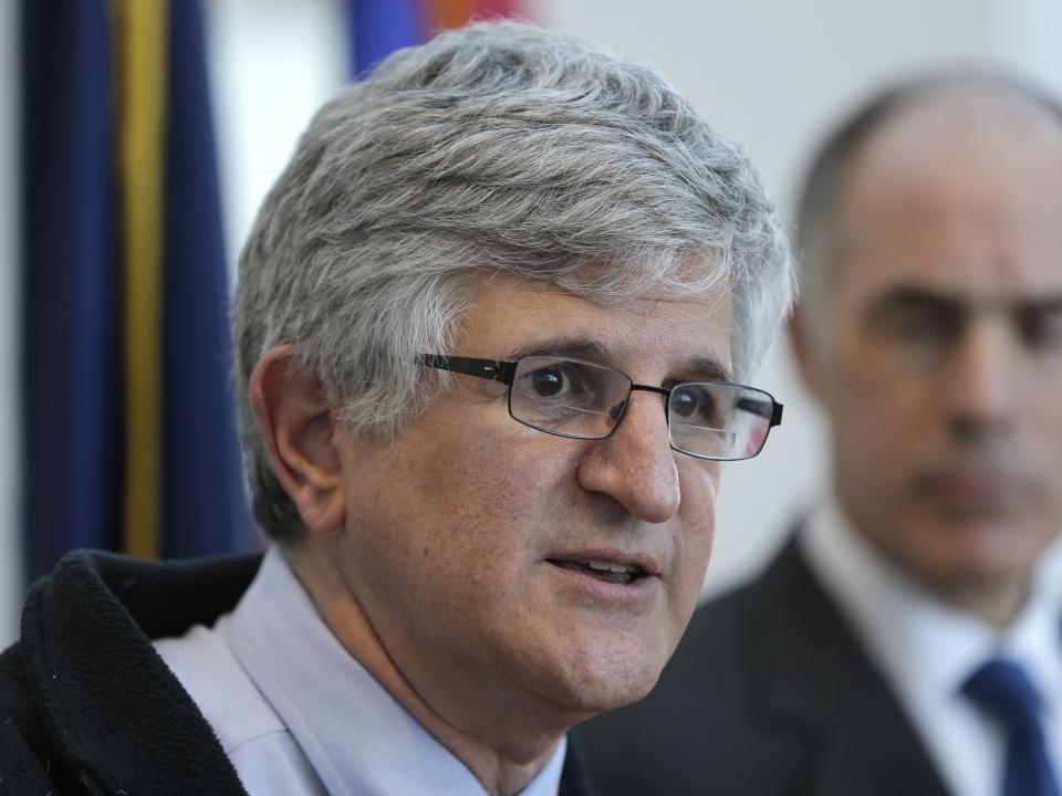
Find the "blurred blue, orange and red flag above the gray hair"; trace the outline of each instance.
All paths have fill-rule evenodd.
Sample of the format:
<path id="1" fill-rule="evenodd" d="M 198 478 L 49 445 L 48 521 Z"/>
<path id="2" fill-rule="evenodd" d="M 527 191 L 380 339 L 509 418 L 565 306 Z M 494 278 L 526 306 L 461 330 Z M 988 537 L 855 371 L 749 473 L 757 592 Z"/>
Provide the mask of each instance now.
<path id="1" fill-rule="evenodd" d="M 525 13 L 520 0 L 346 0 L 346 4 L 353 75 L 441 28 Z"/>

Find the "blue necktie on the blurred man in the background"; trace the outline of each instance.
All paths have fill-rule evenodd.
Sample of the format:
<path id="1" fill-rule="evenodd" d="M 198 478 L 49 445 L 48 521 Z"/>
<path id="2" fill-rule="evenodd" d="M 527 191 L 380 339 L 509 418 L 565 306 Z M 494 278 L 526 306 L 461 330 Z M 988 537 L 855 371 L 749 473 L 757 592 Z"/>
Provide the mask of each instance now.
<path id="1" fill-rule="evenodd" d="M 1051 769 L 1040 724 L 1040 694 L 1025 670 L 993 659 L 964 685 L 966 693 L 1000 723 L 1007 739 L 1001 796 L 1062 796 Z"/>

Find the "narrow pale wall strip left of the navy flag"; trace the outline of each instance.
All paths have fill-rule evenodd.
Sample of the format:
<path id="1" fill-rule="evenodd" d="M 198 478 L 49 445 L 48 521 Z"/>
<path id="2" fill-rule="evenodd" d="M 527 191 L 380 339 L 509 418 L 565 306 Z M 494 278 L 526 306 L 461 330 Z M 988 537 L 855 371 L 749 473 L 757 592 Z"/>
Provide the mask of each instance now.
<path id="1" fill-rule="evenodd" d="M 14 2 L 0 0 L 0 648 L 18 635 L 18 20 Z"/>

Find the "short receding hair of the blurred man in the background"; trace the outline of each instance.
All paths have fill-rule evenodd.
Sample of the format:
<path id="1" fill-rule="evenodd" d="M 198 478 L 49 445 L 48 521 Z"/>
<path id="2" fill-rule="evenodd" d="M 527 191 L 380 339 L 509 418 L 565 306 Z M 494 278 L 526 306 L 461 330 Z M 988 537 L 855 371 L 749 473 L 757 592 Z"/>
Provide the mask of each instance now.
<path id="1" fill-rule="evenodd" d="M 1062 104 L 1030 80 L 982 66 L 947 69 L 894 83 L 860 105 L 839 124 L 811 159 L 796 202 L 800 294 L 806 311 L 802 327 L 821 348 L 833 276 L 843 259 L 841 209 L 852 164 L 872 134 L 900 108 L 936 94 L 970 90 L 998 100 L 1003 113 L 1033 106 L 1062 122 Z M 1016 105 L 1017 103 L 1017 105 Z"/>

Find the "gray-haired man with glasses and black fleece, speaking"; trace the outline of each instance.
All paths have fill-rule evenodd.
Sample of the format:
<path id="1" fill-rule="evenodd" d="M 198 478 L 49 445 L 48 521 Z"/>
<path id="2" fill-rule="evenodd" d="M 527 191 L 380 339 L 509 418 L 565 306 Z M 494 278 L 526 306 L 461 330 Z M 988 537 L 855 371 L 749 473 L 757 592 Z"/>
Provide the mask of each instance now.
<path id="1" fill-rule="evenodd" d="M 391 56 L 240 260 L 275 546 L 64 561 L 0 669 L 0 789 L 583 793 L 568 730 L 656 682 L 720 462 L 781 419 L 737 381 L 792 281 L 747 157 L 655 71 L 514 23 Z"/>

